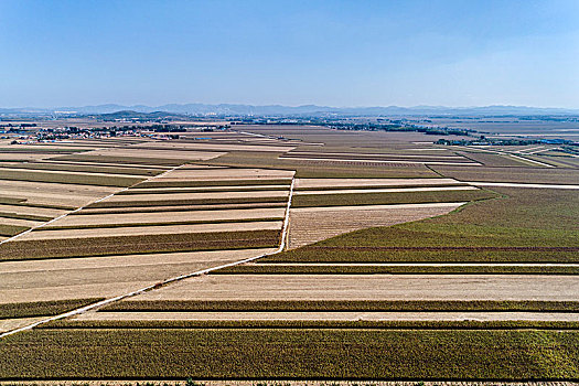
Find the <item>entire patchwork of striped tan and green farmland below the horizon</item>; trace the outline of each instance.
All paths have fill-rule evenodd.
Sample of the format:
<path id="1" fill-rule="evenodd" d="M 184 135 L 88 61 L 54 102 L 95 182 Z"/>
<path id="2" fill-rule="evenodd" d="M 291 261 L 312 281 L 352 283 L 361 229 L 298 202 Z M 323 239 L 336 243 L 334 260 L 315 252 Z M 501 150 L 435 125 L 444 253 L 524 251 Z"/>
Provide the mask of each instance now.
<path id="1" fill-rule="evenodd" d="M 579 379 L 577 158 L 187 125 L 0 144 L 0 380 Z"/>

